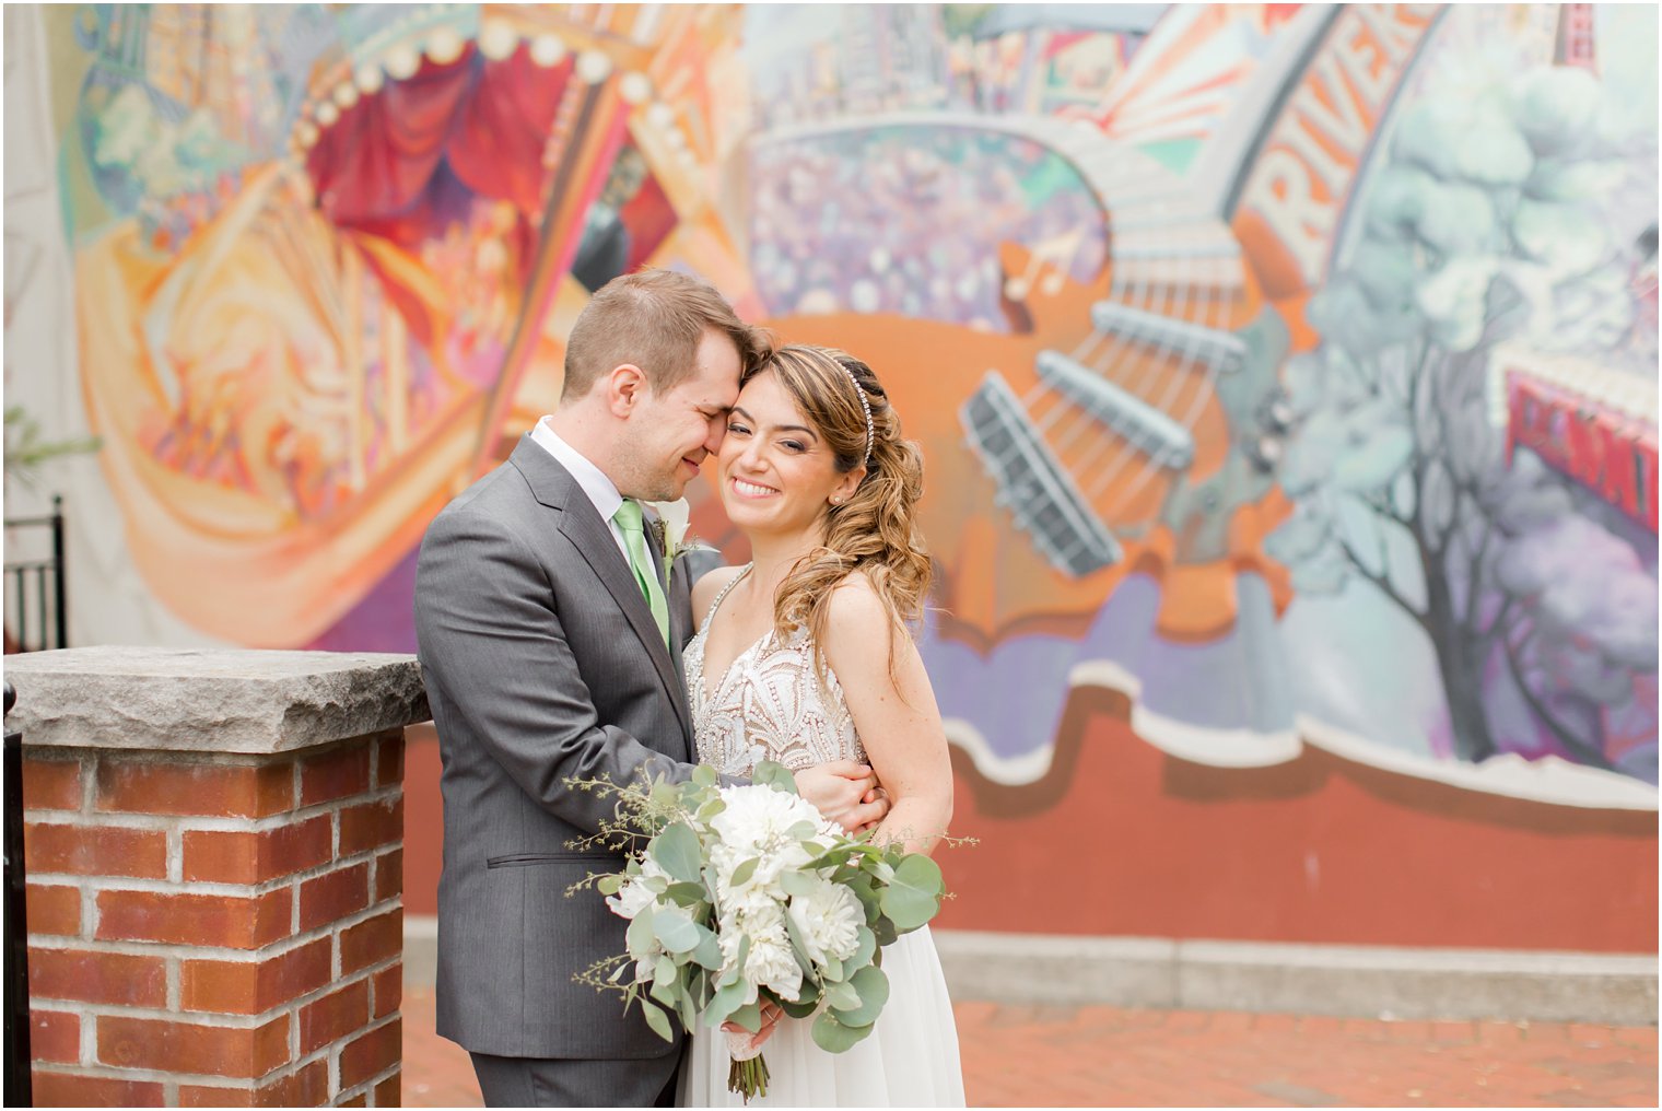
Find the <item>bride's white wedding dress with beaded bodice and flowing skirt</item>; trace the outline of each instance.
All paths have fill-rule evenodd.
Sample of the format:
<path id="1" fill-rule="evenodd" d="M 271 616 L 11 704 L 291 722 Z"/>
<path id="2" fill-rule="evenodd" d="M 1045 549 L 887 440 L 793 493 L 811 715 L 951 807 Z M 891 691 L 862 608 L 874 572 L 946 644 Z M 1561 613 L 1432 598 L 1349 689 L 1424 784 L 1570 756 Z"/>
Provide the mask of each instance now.
<path id="1" fill-rule="evenodd" d="M 770 630 L 706 687 L 710 620 L 745 574 L 716 595 L 683 655 L 698 762 L 728 775 L 750 775 L 760 760 L 774 760 L 793 772 L 829 760 L 864 762 L 866 750 L 854 733 L 843 689 L 829 670 L 821 687 L 806 634 L 786 642 Z M 883 971 L 889 978 L 889 1001 L 871 1036 L 848 1053 L 826 1053 L 814 1044 L 813 1020 L 779 1021 L 761 1049 L 768 1059 L 768 1094 L 751 1106 L 964 1106 L 957 1026 L 929 926 L 884 948 Z M 726 1034 L 700 1028 L 681 1068 L 680 1103 L 745 1106 L 743 1098 L 728 1091 L 728 1063 Z"/>

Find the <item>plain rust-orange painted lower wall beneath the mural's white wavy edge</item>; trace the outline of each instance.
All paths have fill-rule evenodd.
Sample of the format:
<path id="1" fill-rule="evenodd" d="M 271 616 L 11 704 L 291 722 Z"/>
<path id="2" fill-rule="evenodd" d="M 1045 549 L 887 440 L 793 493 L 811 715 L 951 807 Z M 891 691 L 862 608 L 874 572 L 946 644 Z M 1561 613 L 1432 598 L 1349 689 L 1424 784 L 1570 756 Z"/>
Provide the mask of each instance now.
<path id="1" fill-rule="evenodd" d="M 1315 747 L 1220 768 L 1077 699 L 1050 773 L 1007 788 L 954 750 L 939 855 L 954 930 L 1654 953 L 1657 815 L 1468 792 Z M 439 745 L 411 732 L 406 908 L 437 913 Z M 1449 867 L 1458 860 L 1459 867 Z"/>

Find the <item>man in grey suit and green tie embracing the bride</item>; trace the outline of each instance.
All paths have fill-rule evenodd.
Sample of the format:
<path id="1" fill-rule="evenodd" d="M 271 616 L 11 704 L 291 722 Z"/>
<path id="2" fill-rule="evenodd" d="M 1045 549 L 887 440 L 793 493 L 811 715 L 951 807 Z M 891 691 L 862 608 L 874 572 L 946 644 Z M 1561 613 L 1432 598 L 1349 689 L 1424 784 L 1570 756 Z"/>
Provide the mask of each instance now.
<path id="1" fill-rule="evenodd" d="M 623 951 L 623 921 L 567 888 L 622 860 L 570 848 L 612 803 L 565 778 L 691 775 L 690 584 L 680 564 L 665 575 L 638 501 L 681 496 L 765 354 L 698 278 L 607 283 L 572 328 L 558 409 L 422 541 L 416 635 L 444 763 L 439 1033 L 469 1049 L 490 1106 L 673 1098 L 680 1044 L 572 980 Z M 856 763 L 798 773 L 849 828 L 886 808 L 861 803 L 871 785 Z"/>

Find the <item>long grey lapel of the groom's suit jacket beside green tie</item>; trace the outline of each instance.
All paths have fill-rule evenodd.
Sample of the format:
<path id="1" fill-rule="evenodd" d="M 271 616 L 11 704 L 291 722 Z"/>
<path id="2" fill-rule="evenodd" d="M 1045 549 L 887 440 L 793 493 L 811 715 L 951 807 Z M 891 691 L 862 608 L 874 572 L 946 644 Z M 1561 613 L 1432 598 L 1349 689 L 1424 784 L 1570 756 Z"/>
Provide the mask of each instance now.
<path id="1" fill-rule="evenodd" d="M 676 660 L 670 659 L 670 649 L 665 647 L 663 637 L 658 634 L 658 622 L 652 619 L 652 607 L 647 605 L 647 597 L 640 592 L 640 584 L 635 582 L 635 572 L 630 570 L 628 560 L 618 551 L 612 529 L 600 519 L 595 504 L 588 501 L 582 487 L 577 486 L 577 481 L 572 479 L 553 456 L 532 441 L 530 436 L 514 449 L 512 462 L 530 482 L 537 501 L 560 511 L 560 532 L 572 541 L 572 547 L 583 557 L 590 570 L 595 572 L 595 577 L 600 579 L 602 585 L 612 595 L 612 600 L 617 602 L 623 617 L 628 619 L 630 629 L 635 630 L 653 667 L 658 669 L 658 679 L 663 682 L 663 689 L 670 695 L 670 704 L 675 707 L 675 717 L 681 723 L 681 740 L 688 745 L 690 752 L 693 720 L 686 709 L 686 685 L 681 682 Z M 652 549 L 653 544 L 647 547 Z M 656 559 L 655 564 L 658 564 Z M 673 609 L 670 624 L 673 640 Z"/>

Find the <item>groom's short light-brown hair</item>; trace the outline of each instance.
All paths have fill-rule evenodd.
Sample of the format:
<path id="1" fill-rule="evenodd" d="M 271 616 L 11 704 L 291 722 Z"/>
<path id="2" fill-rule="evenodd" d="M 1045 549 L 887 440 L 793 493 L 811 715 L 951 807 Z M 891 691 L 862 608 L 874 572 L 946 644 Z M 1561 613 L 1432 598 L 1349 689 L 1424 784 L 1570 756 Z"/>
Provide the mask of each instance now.
<path id="1" fill-rule="evenodd" d="M 602 374 L 625 363 L 642 369 L 653 393 L 671 389 L 693 373 L 698 344 L 711 329 L 738 348 L 741 378 L 773 349 L 765 333 L 741 321 L 726 298 L 696 274 L 638 269 L 613 278 L 572 324 L 560 401 L 588 396 Z"/>

